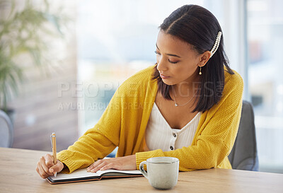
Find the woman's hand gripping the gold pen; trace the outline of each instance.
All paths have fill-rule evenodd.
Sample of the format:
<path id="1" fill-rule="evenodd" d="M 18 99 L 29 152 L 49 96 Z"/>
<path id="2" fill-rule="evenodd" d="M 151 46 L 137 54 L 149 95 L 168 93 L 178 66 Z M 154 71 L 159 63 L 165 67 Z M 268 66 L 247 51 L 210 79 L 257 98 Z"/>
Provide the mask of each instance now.
<path id="1" fill-rule="evenodd" d="M 42 156 L 37 163 L 36 171 L 42 178 L 50 177 L 50 175 L 54 175 L 55 172 L 61 172 L 64 168 L 64 164 L 57 160 L 57 163 L 53 163 L 53 156 L 50 154 L 46 154 Z"/>

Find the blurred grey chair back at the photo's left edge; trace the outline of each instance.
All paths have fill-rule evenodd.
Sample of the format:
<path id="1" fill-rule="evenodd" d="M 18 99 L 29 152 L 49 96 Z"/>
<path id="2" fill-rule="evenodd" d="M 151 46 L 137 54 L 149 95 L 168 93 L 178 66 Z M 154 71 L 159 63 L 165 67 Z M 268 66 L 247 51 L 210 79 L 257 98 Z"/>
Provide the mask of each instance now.
<path id="1" fill-rule="evenodd" d="M 8 115 L 0 110 L 0 147 L 11 148 L 13 144 L 13 125 Z"/>

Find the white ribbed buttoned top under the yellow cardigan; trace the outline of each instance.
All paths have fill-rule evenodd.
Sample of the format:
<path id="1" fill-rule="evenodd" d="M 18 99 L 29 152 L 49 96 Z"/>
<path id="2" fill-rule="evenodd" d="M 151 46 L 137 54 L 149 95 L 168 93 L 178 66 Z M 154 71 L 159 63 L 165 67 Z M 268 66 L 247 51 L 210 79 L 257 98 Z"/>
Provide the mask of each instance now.
<path id="1" fill-rule="evenodd" d="M 201 114 L 201 112 L 198 112 L 182 129 L 172 129 L 154 103 L 146 126 L 146 146 L 149 151 L 159 148 L 162 151 L 171 151 L 183 148 L 183 146 L 190 146 Z"/>

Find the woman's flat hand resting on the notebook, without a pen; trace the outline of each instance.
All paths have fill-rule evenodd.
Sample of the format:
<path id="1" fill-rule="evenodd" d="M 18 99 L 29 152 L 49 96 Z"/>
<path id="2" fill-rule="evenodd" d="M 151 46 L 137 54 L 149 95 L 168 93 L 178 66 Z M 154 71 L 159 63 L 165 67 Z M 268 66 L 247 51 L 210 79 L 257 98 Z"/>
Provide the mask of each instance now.
<path id="1" fill-rule="evenodd" d="M 136 155 L 108 158 L 103 160 L 97 160 L 91 164 L 86 170 L 88 172 L 97 172 L 98 170 L 136 170 Z"/>

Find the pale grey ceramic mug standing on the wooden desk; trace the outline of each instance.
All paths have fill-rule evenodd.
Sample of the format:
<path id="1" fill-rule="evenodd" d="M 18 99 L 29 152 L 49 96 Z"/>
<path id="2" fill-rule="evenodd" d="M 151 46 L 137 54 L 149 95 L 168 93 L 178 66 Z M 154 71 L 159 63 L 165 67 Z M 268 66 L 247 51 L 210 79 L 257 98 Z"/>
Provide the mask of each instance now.
<path id="1" fill-rule="evenodd" d="M 144 170 L 144 165 L 147 172 Z M 149 158 L 139 164 L 139 170 L 152 187 L 170 189 L 175 187 L 178 181 L 179 160 L 171 157 Z"/>

